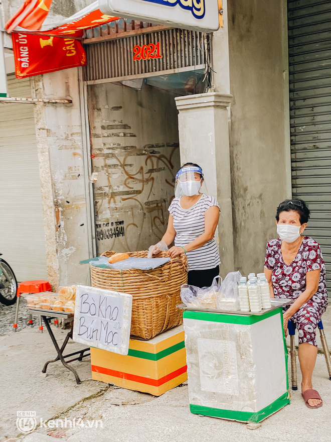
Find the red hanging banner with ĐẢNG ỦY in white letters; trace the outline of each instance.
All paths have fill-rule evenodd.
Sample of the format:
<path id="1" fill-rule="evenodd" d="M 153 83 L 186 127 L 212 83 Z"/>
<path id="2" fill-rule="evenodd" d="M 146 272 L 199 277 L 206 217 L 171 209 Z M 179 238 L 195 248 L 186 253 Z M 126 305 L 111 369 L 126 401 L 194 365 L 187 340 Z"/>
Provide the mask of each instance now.
<path id="1" fill-rule="evenodd" d="M 79 40 L 68 37 L 12 33 L 16 78 L 84 66 L 86 55 Z"/>

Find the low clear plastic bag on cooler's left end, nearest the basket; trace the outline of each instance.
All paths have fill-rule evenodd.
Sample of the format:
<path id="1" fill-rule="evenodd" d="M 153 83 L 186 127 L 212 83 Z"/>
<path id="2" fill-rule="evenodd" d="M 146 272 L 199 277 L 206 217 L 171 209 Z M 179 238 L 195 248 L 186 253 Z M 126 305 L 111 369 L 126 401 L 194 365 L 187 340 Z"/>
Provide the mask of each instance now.
<path id="1" fill-rule="evenodd" d="M 217 281 L 217 280 L 220 280 Z M 215 276 L 211 287 L 196 287 L 183 284 L 181 287 L 181 299 L 187 307 L 217 308 L 216 299 L 221 289 L 222 278 Z"/>

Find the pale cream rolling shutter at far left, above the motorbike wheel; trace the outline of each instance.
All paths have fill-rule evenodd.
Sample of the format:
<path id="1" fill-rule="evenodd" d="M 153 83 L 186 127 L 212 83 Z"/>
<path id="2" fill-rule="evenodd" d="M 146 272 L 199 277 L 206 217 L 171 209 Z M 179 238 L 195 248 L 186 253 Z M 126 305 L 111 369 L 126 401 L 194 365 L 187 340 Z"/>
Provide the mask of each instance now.
<path id="1" fill-rule="evenodd" d="M 30 80 L 8 77 L 11 96 Z M 0 252 L 18 281 L 47 280 L 44 220 L 33 104 L 0 104 Z"/>

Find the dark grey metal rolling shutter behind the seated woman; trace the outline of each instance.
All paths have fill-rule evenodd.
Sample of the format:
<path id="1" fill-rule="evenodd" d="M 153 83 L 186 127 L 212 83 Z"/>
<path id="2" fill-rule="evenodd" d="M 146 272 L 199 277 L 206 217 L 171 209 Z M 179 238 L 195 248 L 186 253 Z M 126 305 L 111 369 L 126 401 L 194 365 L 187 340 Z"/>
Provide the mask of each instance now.
<path id="1" fill-rule="evenodd" d="M 331 293 L 331 1 L 288 1 L 292 195 L 311 210 Z"/>

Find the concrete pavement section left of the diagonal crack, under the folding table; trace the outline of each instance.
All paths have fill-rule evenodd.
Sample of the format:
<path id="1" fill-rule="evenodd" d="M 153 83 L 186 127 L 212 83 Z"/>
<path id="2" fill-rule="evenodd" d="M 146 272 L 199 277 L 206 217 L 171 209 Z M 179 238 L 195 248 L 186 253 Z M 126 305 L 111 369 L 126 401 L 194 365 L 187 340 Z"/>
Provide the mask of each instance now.
<path id="1" fill-rule="evenodd" d="M 53 325 L 52 330 L 58 342 L 62 342 L 68 332 Z M 83 347 L 71 341 L 65 353 L 72 353 Z M 0 440 L 18 434 L 17 411 L 35 410 L 37 416 L 50 419 L 107 387 L 106 384 L 92 381 L 89 357 L 82 362 L 72 363 L 83 381 L 80 385 L 76 384 L 74 375 L 61 362 L 50 364 L 48 376 L 42 377 L 45 362 L 56 356 L 46 329 L 44 333 L 40 333 L 38 328 L 25 328 L 0 337 Z"/>

